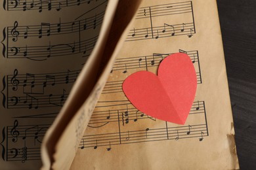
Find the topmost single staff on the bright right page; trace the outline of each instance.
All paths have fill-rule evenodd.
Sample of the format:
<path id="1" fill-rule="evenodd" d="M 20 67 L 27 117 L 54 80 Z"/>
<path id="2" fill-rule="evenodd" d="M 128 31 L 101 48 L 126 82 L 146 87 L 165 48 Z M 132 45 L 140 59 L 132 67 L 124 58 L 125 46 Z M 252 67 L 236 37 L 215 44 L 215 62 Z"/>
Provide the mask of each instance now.
<path id="1" fill-rule="evenodd" d="M 167 16 L 173 14 L 185 14 L 192 12 L 192 2 L 169 3 L 164 5 L 154 5 L 150 7 L 141 7 L 135 19 L 150 18 L 150 16 Z"/>

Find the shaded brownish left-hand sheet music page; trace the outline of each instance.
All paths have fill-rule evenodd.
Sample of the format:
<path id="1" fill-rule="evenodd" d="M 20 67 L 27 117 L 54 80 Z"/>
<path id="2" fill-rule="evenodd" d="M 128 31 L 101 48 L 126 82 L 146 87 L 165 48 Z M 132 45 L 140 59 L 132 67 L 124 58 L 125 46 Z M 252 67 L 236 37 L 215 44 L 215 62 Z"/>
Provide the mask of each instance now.
<path id="1" fill-rule="evenodd" d="M 107 0 L 4 0 L 3 169 L 39 169 L 41 143 L 98 39 Z"/>

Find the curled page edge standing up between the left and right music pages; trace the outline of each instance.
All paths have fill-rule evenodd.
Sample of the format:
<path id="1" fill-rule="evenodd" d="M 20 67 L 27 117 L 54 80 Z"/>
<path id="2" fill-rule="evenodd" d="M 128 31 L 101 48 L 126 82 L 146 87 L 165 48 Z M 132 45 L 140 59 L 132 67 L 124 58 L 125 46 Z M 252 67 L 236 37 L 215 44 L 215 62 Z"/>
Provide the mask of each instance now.
<path id="1" fill-rule="evenodd" d="M 128 25 L 133 21 L 139 4 L 138 0 L 112 0 L 108 3 L 102 25 L 103 31 L 100 31 L 98 38 L 102 43 L 95 46 L 87 65 L 74 84 L 68 101 L 43 141 L 42 169 L 70 168 L 79 141 L 104 88 L 117 52 L 125 41 L 129 31 Z M 80 107 L 79 103 L 83 105 Z"/>

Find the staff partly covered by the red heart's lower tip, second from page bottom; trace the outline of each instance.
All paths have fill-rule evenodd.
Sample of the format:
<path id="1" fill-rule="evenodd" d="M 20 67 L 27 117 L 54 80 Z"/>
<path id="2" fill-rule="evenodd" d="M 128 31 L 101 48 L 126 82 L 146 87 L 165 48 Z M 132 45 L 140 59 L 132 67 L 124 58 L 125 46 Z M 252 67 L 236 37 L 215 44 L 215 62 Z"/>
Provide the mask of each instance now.
<path id="1" fill-rule="evenodd" d="M 111 109 L 108 110 L 108 107 Z M 114 109 L 115 107 L 121 107 L 122 109 Z M 97 108 L 98 107 L 96 106 L 95 109 Z M 115 106 L 104 105 L 104 108 L 106 109 L 93 112 L 93 115 L 91 116 L 91 119 L 89 121 L 90 127 L 96 127 L 93 126 L 93 124 L 108 124 L 110 122 L 122 122 L 124 126 L 125 124 L 128 124 L 130 121 L 137 122 L 138 120 L 145 118 L 156 121 L 156 118 L 153 118 L 151 116 L 144 114 L 143 112 L 140 112 L 135 107 L 133 107 L 131 103 L 128 102 L 123 102 Z M 194 101 L 189 114 L 205 114 L 204 101 Z"/>

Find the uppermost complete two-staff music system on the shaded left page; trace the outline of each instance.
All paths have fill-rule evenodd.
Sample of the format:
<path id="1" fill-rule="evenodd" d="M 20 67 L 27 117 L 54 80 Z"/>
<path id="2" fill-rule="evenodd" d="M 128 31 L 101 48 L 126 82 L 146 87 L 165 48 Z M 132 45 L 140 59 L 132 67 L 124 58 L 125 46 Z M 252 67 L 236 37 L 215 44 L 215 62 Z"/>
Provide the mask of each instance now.
<path id="1" fill-rule="evenodd" d="M 96 7 L 91 7 L 93 9 L 81 14 L 72 22 L 63 22 L 59 18 L 55 23 L 21 25 L 20 22 L 15 21 L 12 26 L 3 29 L 3 41 L 1 41 L 3 57 L 35 61 L 76 54 L 79 54 L 79 57 L 88 57 L 98 39 L 98 35 L 92 32 L 100 30 L 106 10 L 104 5 L 107 2 L 100 2 Z M 100 10 L 93 12 L 97 8 Z M 65 40 L 63 35 L 70 38 Z M 29 44 L 31 41 L 37 44 Z"/>

